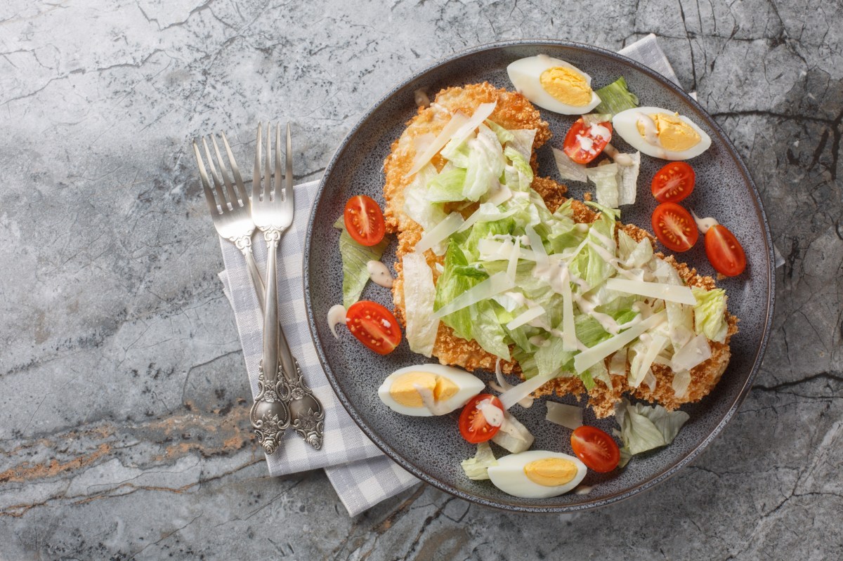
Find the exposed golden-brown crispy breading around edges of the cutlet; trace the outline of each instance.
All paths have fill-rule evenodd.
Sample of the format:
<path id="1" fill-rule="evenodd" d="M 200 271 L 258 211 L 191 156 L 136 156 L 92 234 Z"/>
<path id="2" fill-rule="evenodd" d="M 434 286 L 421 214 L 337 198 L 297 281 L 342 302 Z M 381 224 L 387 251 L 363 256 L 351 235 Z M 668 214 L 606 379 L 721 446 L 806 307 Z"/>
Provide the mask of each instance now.
<path id="1" fill-rule="evenodd" d="M 395 302 L 395 316 L 403 325 L 406 325 L 406 321 L 404 315 L 404 273 L 401 257 L 412 251 L 422 233 L 421 227 L 406 216 L 403 210 L 404 189 L 411 182 L 411 178 L 405 178 L 405 174 L 410 170 L 416 153 L 413 139 L 426 133 L 438 134 L 450 119 L 450 112 L 462 110 L 465 114 L 470 115 L 479 104 L 491 101 L 497 101 L 497 107 L 490 116 L 490 119 L 497 124 L 507 129 L 534 128 L 538 131 L 535 136 L 534 148 L 540 147 L 550 139 L 550 129 L 547 123 L 540 119 L 539 112 L 524 96 L 519 93 L 508 92 L 505 89 L 494 88 L 489 83 L 481 83 L 468 85 L 464 88 L 448 88 L 439 92 L 430 108 L 419 109 L 418 115 L 410 120 L 404 133 L 393 143 L 392 152 L 384 162 L 384 174 L 386 175 L 384 184 L 386 211 L 384 217 L 386 218 L 387 230 L 398 233 L 398 250 L 396 252 L 398 260 L 395 263 L 396 278 L 392 294 Z M 433 158 L 432 163 L 437 168 L 441 168 L 443 165 L 442 159 L 438 156 Z M 537 168 L 535 153 L 530 163 L 535 170 Z M 556 183 L 553 179 L 537 176 L 534 179 L 533 188 L 542 196 L 545 205 L 551 212 L 556 211 L 556 208 L 566 201 L 566 187 Z M 591 197 L 587 194 L 585 199 L 590 200 Z M 465 209 L 464 215 L 468 216 L 473 210 L 472 207 Z M 599 216 L 597 212 L 578 200 L 572 200 L 572 210 L 575 222 L 590 223 Z M 619 227 L 636 241 L 648 239 L 653 245 L 655 243 L 652 235 L 639 227 L 631 224 L 619 224 Z M 658 255 L 664 257 L 663 254 Z M 435 283 L 438 281 L 439 274 L 434 265 L 436 263 L 442 264 L 443 257 L 436 256 L 430 250 L 426 252 L 425 257 L 427 258 L 427 264 L 433 270 Z M 696 275 L 694 269 L 691 269 L 687 264 L 678 263 L 672 256 L 664 259 L 674 266 L 679 272 L 679 276 L 688 285 L 699 286 L 706 290 L 714 288 L 714 280 L 711 277 Z M 678 408 L 682 403 L 696 402 L 705 397 L 717 385 L 723 371 L 726 370 L 730 356 L 729 339 L 738 332 L 738 318 L 727 313 L 727 320 L 726 342 L 711 342 L 711 358 L 690 371 L 691 382 L 685 396 L 682 398 L 675 397 L 672 387 L 673 373 L 667 366 L 653 365 L 652 372 L 656 377 L 656 385 L 653 390 L 646 385 L 637 388 L 630 387 L 626 376 L 613 376 L 612 387 L 608 387 L 604 382 L 596 382 L 595 387 L 587 393 L 588 404 L 593 408 L 594 414 L 598 417 L 615 414 L 615 403 L 620 401 L 624 393 L 631 393 L 637 398 L 662 403 L 665 408 L 671 410 Z M 476 369 L 491 371 L 495 368 L 497 362 L 497 356 L 483 350 L 475 341 L 460 339 L 444 323 L 439 324 L 436 343 L 433 345 L 433 355 L 438 357 L 442 364 L 462 366 L 470 371 Z M 501 361 L 501 366 L 504 372 L 522 376 L 517 362 Z M 586 389 L 578 377 L 556 378 L 541 387 L 534 395 L 538 397 L 552 393 L 558 395 L 572 393 L 582 397 L 586 393 Z"/>

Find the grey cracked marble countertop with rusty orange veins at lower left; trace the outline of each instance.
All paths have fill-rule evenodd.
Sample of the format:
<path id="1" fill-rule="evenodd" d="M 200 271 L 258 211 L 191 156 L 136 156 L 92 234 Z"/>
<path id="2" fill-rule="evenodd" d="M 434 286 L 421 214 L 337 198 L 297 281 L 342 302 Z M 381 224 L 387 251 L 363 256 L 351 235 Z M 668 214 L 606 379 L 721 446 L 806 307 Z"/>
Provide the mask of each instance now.
<path id="1" fill-rule="evenodd" d="M 438 57 L 649 33 L 749 165 L 784 258 L 722 435 L 576 516 L 419 486 L 350 518 L 321 471 L 268 477 L 190 139 L 292 120 L 316 179 Z M 3 2 L 0 558 L 839 558 L 841 41 L 820 0 Z"/>

